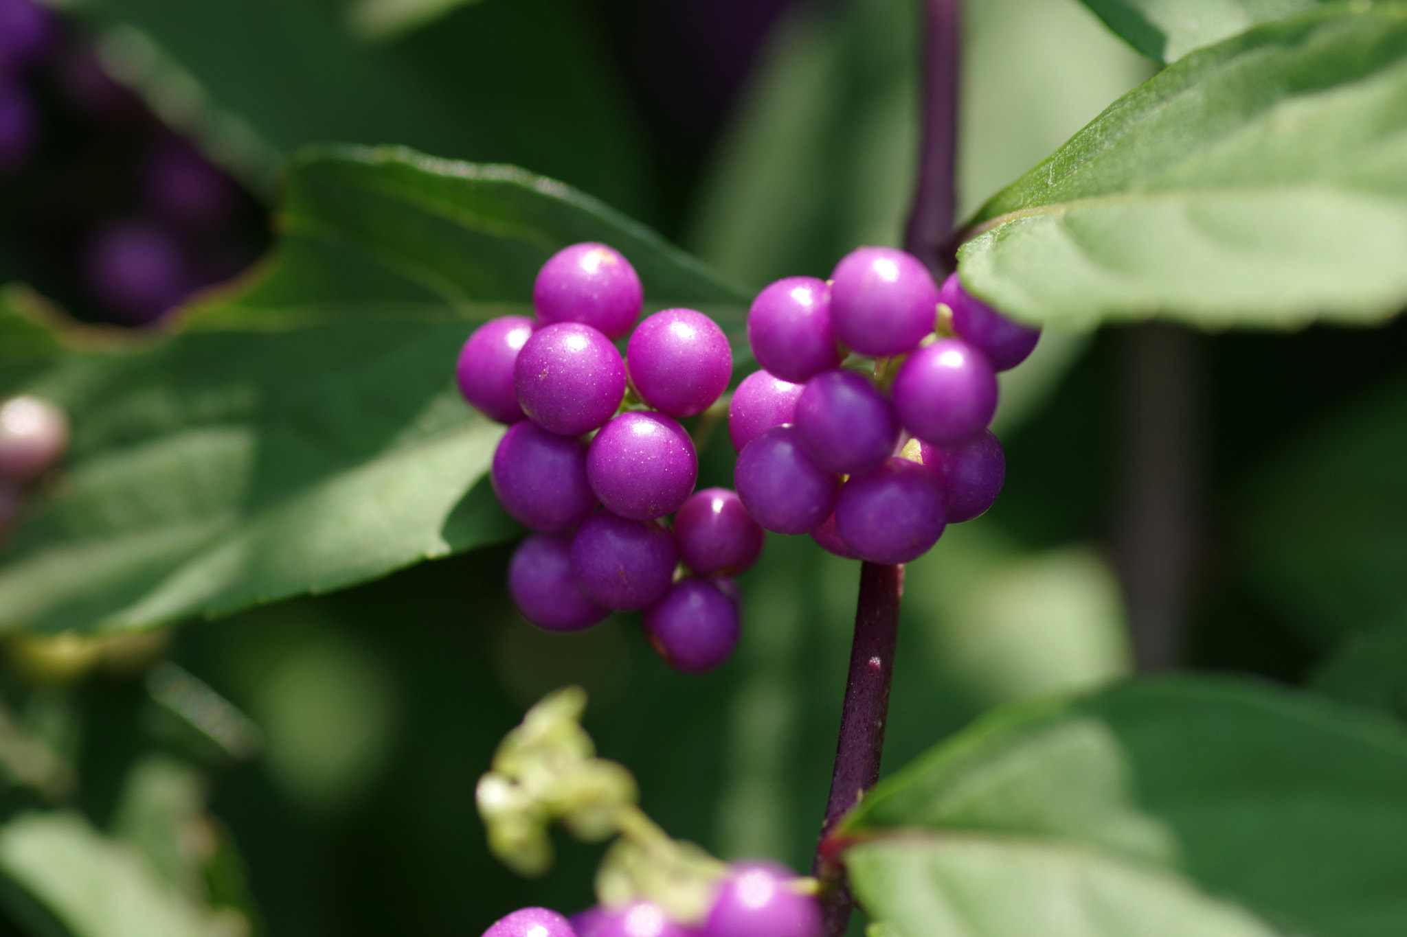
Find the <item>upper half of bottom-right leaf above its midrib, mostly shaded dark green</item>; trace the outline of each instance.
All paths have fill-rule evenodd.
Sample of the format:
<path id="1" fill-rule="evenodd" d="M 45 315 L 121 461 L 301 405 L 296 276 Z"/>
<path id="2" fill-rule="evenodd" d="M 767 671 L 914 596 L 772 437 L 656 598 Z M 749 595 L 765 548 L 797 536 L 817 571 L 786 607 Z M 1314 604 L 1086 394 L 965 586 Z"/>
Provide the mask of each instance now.
<path id="1" fill-rule="evenodd" d="M 1407 929 L 1407 730 L 1269 686 L 1175 677 L 998 711 L 881 784 L 841 836 L 915 829 L 1168 867 L 1289 933 Z M 1064 878 L 1075 900 L 1081 875 Z"/>

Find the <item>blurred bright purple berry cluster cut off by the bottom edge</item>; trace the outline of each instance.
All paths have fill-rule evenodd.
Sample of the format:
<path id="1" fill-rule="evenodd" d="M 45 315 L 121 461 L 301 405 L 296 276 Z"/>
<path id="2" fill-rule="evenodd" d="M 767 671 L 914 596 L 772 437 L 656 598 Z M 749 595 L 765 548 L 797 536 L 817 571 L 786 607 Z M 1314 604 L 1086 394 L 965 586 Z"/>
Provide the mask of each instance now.
<path id="1" fill-rule="evenodd" d="M 570 920 L 546 907 L 525 907 L 484 937 L 820 937 L 820 909 L 798 882 L 781 865 L 747 863 L 722 881 L 702 926 L 674 922 L 650 902 L 594 907 Z"/>

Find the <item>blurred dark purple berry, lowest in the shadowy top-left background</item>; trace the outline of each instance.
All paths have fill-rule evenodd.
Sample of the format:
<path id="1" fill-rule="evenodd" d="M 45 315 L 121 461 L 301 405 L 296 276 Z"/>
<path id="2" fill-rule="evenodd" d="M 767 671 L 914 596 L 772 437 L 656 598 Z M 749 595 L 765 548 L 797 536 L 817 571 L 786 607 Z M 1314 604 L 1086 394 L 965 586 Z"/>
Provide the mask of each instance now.
<path id="1" fill-rule="evenodd" d="M 89 240 L 84 273 L 94 298 L 131 326 L 155 322 L 190 291 L 180 246 L 163 228 L 145 221 L 100 228 Z"/>

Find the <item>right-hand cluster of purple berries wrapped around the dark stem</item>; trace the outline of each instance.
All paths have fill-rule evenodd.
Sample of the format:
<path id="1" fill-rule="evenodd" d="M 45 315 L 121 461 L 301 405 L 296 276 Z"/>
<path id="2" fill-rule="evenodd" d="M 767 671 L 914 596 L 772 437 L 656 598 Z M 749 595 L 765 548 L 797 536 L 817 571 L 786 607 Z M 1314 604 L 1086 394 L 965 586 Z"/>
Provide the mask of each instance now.
<path id="1" fill-rule="evenodd" d="M 764 369 L 733 393 L 729 434 L 737 493 L 764 528 L 906 563 L 996 500 L 996 372 L 1024 361 L 1040 332 L 957 275 L 940 288 L 913 256 L 860 247 L 829 282 L 763 289 L 747 337 Z"/>

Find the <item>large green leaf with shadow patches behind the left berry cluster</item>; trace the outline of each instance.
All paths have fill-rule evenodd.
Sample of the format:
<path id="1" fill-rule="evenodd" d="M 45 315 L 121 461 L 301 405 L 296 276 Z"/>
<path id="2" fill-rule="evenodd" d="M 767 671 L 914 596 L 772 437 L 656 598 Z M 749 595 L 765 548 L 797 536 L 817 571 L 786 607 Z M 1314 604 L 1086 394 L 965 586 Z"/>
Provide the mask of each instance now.
<path id="1" fill-rule="evenodd" d="M 336 150 L 290 192 L 286 243 L 201 329 L 27 382 L 75 435 L 0 568 L 0 629 L 225 614 L 514 537 L 484 478 L 502 427 L 453 384 L 460 316 L 529 309 L 567 243 L 622 249 L 653 305 L 743 320 L 696 261 L 521 170 Z"/>

